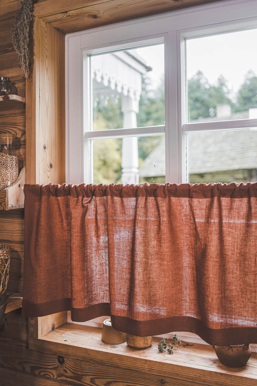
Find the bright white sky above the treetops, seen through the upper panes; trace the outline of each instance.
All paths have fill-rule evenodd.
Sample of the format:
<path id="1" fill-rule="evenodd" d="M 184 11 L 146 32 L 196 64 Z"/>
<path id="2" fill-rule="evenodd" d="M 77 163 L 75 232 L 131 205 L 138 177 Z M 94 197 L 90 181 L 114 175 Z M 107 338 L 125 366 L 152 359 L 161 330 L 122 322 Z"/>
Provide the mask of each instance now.
<path id="1" fill-rule="evenodd" d="M 136 51 L 153 67 L 147 76 L 157 84 L 164 71 L 164 46 L 143 47 Z M 215 84 L 222 74 L 234 99 L 245 74 L 249 70 L 257 74 L 257 29 L 188 39 L 186 58 L 188 78 L 200 70 L 211 84 Z"/>

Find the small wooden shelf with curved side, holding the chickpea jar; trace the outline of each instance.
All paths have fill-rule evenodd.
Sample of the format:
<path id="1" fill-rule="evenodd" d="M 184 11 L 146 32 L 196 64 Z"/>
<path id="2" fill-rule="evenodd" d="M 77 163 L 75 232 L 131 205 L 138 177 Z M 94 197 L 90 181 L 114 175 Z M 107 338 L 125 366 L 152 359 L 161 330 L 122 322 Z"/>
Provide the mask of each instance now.
<path id="1" fill-rule="evenodd" d="M 0 190 L 0 210 L 24 208 L 23 186 L 26 182 L 26 168 L 22 168 L 16 181 Z"/>

